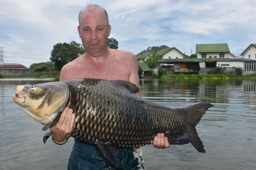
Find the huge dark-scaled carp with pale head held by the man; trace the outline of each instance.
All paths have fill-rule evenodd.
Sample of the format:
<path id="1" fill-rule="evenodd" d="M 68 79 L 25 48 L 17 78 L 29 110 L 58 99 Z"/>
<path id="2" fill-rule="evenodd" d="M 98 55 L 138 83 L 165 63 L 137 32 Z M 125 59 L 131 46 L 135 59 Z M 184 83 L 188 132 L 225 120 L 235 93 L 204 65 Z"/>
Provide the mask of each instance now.
<path id="1" fill-rule="evenodd" d="M 72 108 L 71 136 L 92 143 L 116 169 L 122 169 L 118 148 L 151 145 L 158 133 L 164 133 L 170 145 L 191 143 L 198 152 L 206 152 L 195 127 L 212 104 L 169 108 L 141 98 L 138 92 L 128 81 L 78 78 L 17 86 L 12 99 L 44 131 L 58 122 L 66 106 Z"/>

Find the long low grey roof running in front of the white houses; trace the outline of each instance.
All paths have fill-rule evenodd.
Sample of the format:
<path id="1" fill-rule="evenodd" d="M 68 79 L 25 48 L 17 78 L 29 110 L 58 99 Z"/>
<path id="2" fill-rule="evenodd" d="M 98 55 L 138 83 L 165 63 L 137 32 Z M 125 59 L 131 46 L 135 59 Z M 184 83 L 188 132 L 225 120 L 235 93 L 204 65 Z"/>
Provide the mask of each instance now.
<path id="1" fill-rule="evenodd" d="M 160 63 L 171 63 L 171 62 L 205 62 L 205 61 L 256 61 L 255 59 L 248 59 L 244 57 L 237 58 L 215 58 L 215 59 L 161 59 Z"/>

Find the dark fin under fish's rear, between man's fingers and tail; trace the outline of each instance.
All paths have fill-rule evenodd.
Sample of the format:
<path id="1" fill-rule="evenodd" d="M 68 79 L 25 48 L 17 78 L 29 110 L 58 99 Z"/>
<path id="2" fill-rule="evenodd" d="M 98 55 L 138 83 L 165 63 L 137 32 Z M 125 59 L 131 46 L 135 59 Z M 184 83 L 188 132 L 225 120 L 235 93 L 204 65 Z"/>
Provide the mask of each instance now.
<path id="1" fill-rule="evenodd" d="M 164 133 L 164 135 L 167 137 L 170 145 L 184 145 L 191 142 L 191 140 L 188 137 L 186 137 L 184 134 L 180 132 L 168 131 Z"/>

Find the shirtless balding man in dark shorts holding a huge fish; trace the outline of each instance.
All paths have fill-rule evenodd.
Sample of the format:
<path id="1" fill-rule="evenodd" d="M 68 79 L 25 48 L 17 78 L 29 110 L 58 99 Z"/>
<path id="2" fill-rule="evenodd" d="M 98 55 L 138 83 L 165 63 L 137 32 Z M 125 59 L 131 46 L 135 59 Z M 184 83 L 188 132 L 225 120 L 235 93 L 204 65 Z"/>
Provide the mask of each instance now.
<path id="1" fill-rule="evenodd" d="M 106 46 L 111 31 L 106 10 L 97 5 L 89 5 L 81 10 L 78 20 L 78 33 L 86 53 L 62 68 L 60 81 L 72 78 L 126 80 L 140 87 L 138 63 L 134 55 L 128 51 L 108 49 Z M 141 96 L 140 92 L 137 95 Z M 70 137 L 74 117 L 72 109 L 64 109 L 58 123 L 50 129 L 55 142 L 62 142 Z M 158 134 L 153 145 L 162 149 L 170 147 L 164 134 Z M 120 160 L 124 169 L 144 169 L 140 148 L 120 149 Z M 75 140 L 68 169 L 109 168 L 111 167 L 106 166 L 92 145 Z"/>

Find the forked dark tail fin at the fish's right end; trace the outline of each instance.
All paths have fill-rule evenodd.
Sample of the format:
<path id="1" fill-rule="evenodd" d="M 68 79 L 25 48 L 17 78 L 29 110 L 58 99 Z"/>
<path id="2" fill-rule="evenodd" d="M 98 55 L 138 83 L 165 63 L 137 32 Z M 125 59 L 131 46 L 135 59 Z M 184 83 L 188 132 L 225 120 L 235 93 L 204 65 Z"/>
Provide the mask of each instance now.
<path id="1" fill-rule="evenodd" d="M 188 126 L 186 135 L 188 135 L 189 139 L 191 139 L 192 145 L 196 148 L 196 150 L 198 150 L 198 152 L 205 153 L 205 150 L 204 145 L 196 132 L 196 125 L 201 120 L 206 110 L 212 106 L 213 105 L 209 103 L 200 103 L 184 108 L 188 111 Z"/>

